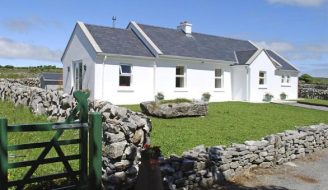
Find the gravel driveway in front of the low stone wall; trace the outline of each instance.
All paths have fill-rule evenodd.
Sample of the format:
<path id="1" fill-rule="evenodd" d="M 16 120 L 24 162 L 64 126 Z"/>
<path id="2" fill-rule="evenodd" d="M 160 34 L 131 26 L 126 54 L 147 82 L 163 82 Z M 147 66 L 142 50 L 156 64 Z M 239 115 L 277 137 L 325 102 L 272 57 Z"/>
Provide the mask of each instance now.
<path id="1" fill-rule="evenodd" d="M 328 148 L 292 164 L 247 171 L 210 190 L 328 190 Z"/>

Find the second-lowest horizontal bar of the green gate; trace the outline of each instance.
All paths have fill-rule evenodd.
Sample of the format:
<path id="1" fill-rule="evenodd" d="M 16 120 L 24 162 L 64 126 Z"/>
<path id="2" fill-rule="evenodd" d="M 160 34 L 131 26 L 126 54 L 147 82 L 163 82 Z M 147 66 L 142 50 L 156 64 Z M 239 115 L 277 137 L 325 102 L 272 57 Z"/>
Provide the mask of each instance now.
<path id="1" fill-rule="evenodd" d="M 75 155 L 70 155 L 70 156 L 65 156 L 67 160 L 77 160 L 81 159 L 80 154 L 75 154 Z M 50 164 L 50 163 L 55 163 L 55 162 L 61 162 L 61 157 L 53 157 L 53 158 L 45 158 L 44 160 L 38 162 L 37 164 Z M 28 161 L 22 161 L 22 162 L 13 162 L 8 164 L 8 169 L 13 169 L 13 168 L 22 168 L 26 166 L 33 166 L 36 164 L 37 160 L 28 160 Z"/>

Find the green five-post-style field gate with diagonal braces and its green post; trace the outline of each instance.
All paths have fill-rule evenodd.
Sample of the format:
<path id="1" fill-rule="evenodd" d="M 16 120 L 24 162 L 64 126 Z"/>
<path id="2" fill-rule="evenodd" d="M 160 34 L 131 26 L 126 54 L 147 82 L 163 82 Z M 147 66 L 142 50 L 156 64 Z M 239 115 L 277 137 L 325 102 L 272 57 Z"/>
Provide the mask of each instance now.
<path id="1" fill-rule="evenodd" d="M 59 178 L 69 178 L 73 183 L 60 189 L 101 189 L 101 114 L 94 112 L 89 114 L 89 93 L 75 91 L 73 96 L 77 105 L 64 122 L 37 123 L 24 125 L 7 125 L 7 119 L 0 119 L 0 190 L 16 187 L 21 190 L 26 184 L 43 182 Z M 72 121 L 75 115 L 79 119 Z M 59 140 L 65 130 L 78 130 L 79 138 Z M 8 133 L 15 132 L 45 132 L 56 131 L 49 142 L 8 145 Z M 88 176 L 88 133 L 89 133 L 89 176 Z M 63 145 L 79 144 L 79 153 L 66 156 L 61 149 Z M 35 160 L 8 163 L 8 151 L 43 148 L 43 151 Z M 46 158 L 47 153 L 54 148 L 58 157 Z M 79 160 L 79 170 L 73 171 L 70 160 Z M 62 162 L 64 172 L 32 177 L 41 164 Z M 9 181 L 8 170 L 30 166 L 27 173 L 20 180 Z"/>

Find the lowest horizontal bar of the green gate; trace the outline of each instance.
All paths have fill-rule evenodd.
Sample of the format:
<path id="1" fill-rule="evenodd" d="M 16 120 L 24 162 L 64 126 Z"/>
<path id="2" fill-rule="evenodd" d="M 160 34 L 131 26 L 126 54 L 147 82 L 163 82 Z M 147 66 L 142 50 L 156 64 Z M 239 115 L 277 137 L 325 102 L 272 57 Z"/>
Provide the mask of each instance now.
<path id="1" fill-rule="evenodd" d="M 73 174 L 77 176 L 79 174 L 78 171 L 73 171 Z M 56 173 L 56 174 L 51 174 L 51 175 L 44 175 L 44 176 L 38 176 L 38 177 L 32 177 L 28 180 L 26 180 L 24 183 L 25 184 L 30 184 L 30 183 L 36 183 L 40 181 L 49 181 L 49 180 L 54 180 L 54 179 L 60 179 L 64 177 L 70 177 L 68 172 L 63 172 L 63 173 Z M 15 181 L 10 181 L 8 183 L 8 187 L 13 187 L 13 186 L 19 186 L 23 180 L 15 180 Z"/>

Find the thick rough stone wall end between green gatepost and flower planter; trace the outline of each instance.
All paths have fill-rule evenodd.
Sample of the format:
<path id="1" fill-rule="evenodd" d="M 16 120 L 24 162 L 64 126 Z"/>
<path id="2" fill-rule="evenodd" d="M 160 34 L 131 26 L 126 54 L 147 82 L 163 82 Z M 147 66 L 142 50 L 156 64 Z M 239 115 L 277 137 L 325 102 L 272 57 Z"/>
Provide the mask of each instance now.
<path id="1" fill-rule="evenodd" d="M 101 112 L 103 116 L 103 185 L 106 190 L 132 188 L 139 170 L 141 148 L 150 144 L 151 121 L 144 114 L 107 101 L 94 101 L 91 105 L 91 111 Z"/>

